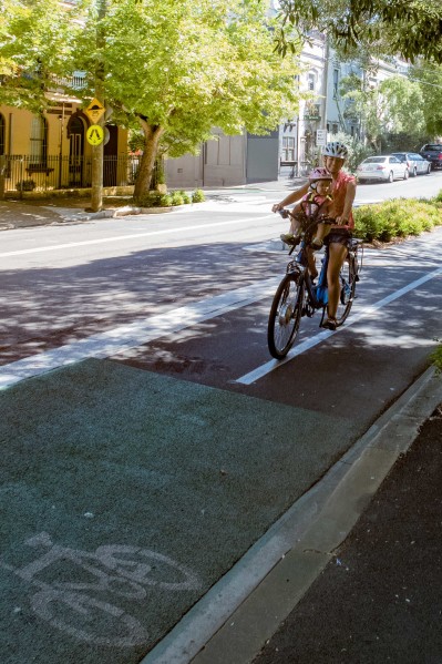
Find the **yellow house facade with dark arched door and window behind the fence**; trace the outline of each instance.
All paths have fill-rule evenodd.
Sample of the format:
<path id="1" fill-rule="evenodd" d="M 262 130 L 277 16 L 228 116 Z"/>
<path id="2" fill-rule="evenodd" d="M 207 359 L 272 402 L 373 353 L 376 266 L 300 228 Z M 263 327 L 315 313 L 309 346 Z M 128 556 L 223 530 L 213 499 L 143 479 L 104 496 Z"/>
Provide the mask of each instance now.
<path id="1" fill-rule="evenodd" d="M 80 89 L 82 79 L 79 72 L 70 86 Z M 56 88 L 56 81 L 47 92 L 47 99 L 48 105 L 39 115 L 0 105 L 0 159 L 6 192 L 91 186 L 92 146 L 86 133 L 92 121 L 80 100 L 64 94 Z M 104 186 L 133 184 L 127 131 L 107 123 L 104 142 Z"/>

